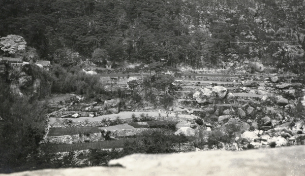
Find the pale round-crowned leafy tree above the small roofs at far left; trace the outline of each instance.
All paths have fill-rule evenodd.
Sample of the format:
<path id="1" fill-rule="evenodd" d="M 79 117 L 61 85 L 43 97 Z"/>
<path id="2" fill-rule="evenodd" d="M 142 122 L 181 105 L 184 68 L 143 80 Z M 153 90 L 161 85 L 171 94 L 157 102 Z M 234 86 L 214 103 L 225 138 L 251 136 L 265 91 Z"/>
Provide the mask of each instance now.
<path id="1" fill-rule="evenodd" d="M 11 34 L 0 39 L 0 47 L 7 55 L 17 54 L 25 50 L 26 42 L 23 37 Z"/>

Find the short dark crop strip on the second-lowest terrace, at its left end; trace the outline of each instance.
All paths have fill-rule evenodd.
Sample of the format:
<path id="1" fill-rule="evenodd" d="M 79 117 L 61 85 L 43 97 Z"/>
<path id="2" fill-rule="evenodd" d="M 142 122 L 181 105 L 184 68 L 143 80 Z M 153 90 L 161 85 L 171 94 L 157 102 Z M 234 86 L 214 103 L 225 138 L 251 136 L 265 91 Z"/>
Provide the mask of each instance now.
<path id="1" fill-rule="evenodd" d="M 75 128 L 50 128 L 48 136 L 75 135 L 80 133 L 98 133 L 101 129 L 98 127 L 75 127 Z"/>

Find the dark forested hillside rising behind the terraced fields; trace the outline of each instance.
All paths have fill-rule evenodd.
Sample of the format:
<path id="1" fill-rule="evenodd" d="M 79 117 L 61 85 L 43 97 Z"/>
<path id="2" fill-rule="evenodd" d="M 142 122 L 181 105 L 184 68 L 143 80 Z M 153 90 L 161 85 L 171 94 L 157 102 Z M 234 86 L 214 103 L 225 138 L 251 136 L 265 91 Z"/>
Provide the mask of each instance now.
<path id="1" fill-rule="evenodd" d="M 305 49 L 301 0 L 3 0 L 0 12 L 0 36 L 22 36 L 45 60 L 202 66 L 279 59 L 278 43 L 270 41 Z"/>

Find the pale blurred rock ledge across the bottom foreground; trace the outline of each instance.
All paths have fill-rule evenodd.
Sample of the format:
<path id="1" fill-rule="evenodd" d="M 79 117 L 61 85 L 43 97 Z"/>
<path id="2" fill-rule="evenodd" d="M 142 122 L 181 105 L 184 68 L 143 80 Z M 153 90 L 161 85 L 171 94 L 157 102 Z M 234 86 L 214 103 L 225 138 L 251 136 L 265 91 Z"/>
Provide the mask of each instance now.
<path id="1" fill-rule="evenodd" d="M 109 165 L 25 171 L 11 175 L 304 175 L 305 146 L 265 150 L 134 154 Z"/>

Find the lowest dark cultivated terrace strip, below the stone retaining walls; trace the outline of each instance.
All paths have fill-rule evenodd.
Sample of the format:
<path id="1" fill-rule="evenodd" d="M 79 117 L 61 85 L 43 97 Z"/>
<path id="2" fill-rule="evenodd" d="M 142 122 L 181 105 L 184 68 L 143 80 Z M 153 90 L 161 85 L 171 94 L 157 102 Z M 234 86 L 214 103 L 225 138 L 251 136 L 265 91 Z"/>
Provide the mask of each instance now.
<path id="1" fill-rule="evenodd" d="M 74 152 L 88 149 L 120 149 L 123 148 L 124 143 L 134 139 L 121 140 L 104 140 L 94 143 L 78 143 L 78 144 L 56 144 L 52 145 L 54 152 Z"/>

